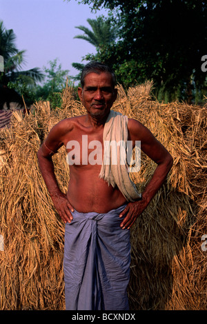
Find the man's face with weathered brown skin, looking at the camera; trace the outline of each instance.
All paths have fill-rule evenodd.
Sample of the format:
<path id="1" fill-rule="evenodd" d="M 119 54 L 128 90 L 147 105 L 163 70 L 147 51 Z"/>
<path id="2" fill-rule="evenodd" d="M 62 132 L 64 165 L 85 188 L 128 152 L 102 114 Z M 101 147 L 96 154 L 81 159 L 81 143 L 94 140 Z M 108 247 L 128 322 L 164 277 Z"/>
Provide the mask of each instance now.
<path id="1" fill-rule="evenodd" d="M 89 73 L 84 87 L 78 89 L 79 98 L 92 117 L 106 117 L 117 98 L 117 89 L 112 87 L 112 76 L 108 72 Z"/>

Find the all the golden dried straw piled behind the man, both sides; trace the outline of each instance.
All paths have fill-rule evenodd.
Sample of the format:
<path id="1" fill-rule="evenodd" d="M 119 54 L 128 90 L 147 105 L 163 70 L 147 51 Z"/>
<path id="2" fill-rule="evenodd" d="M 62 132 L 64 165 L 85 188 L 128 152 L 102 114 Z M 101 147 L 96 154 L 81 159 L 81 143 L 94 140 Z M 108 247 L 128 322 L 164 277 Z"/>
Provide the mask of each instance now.
<path id="1" fill-rule="evenodd" d="M 174 158 L 166 183 L 131 231 L 132 262 L 128 288 L 131 310 L 206 310 L 206 108 L 160 104 L 151 83 L 119 86 L 113 107 L 139 119 Z M 39 172 L 37 150 L 52 125 L 84 114 L 72 90 L 62 94 L 62 109 L 38 102 L 23 117 L 15 112 L 10 129 L 0 132 L 1 310 L 63 310 L 64 225 Z M 69 170 L 63 148 L 53 157 L 59 185 L 66 192 Z M 141 156 L 144 188 L 155 163 Z M 204 246 L 204 245 L 203 245 Z"/>

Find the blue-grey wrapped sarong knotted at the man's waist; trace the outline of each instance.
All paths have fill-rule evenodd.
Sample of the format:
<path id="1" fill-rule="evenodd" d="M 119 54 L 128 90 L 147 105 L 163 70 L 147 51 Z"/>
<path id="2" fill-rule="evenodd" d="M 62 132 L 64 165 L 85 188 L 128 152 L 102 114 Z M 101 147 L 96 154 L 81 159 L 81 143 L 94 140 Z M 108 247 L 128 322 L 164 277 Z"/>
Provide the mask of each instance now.
<path id="1" fill-rule="evenodd" d="M 66 224 L 64 280 L 66 310 L 128 310 L 130 230 L 119 214 L 72 212 Z"/>

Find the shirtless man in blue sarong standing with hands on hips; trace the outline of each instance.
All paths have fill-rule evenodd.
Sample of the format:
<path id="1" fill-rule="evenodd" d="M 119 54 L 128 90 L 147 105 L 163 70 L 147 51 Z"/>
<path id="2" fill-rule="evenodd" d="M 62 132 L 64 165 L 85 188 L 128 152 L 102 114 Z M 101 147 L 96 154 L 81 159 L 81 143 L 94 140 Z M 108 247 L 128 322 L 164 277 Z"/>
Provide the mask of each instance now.
<path id="1" fill-rule="evenodd" d="M 86 114 L 57 123 L 37 154 L 52 202 L 66 223 L 63 261 L 66 309 L 128 310 L 130 227 L 164 183 L 172 167 L 172 156 L 139 121 L 120 117 L 120 122 L 126 125 L 128 141 L 133 147 L 136 141 L 141 141 L 141 150 L 157 163 L 144 192 L 126 199 L 120 189 L 121 181 L 119 186 L 116 181 L 111 185 L 100 176 L 103 165 L 88 162 L 91 143 L 97 143 L 97 147 L 100 143 L 103 158 L 103 131 L 108 125 L 115 125 L 114 134 L 122 134 L 122 126 L 114 119 L 117 114 L 111 116 L 110 110 L 117 98 L 115 74 L 102 63 L 88 63 L 81 74 L 78 94 Z M 79 150 L 75 150 L 76 143 Z M 66 146 L 70 157 L 67 194 L 59 190 L 51 159 L 61 145 Z M 116 173 L 123 169 L 117 165 L 114 170 Z M 126 174 L 123 179 L 122 182 L 128 181 Z"/>

